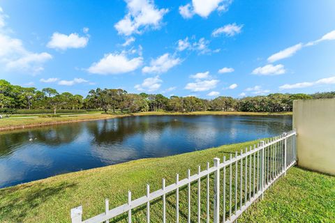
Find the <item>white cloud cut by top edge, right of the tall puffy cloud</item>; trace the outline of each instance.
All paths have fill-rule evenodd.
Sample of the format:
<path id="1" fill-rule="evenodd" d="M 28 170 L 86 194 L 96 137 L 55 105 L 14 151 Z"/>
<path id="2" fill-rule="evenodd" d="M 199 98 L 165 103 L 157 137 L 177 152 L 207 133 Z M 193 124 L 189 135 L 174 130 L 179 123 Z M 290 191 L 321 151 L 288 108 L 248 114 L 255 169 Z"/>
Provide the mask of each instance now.
<path id="1" fill-rule="evenodd" d="M 194 14 L 207 18 L 214 10 L 227 11 L 231 2 L 231 0 L 192 0 L 192 6 L 190 3 L 180 6 L 179 13 L 186 19 L 193 17 Z"/>

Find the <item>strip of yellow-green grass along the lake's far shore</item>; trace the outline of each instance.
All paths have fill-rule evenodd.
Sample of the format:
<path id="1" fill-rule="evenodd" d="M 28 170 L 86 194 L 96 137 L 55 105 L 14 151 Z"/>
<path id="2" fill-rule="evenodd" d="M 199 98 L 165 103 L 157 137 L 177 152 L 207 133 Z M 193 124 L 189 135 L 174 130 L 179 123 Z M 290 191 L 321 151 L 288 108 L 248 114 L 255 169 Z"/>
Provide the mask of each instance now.
<path id="1" fill-rule="evenodd" d="M 97 113 L 97 112 L 96 112 Z M 67 116 L 60 114 L 59 117 L 39 117 L 40 114 L 29 114 L 27 116 L 13 116 L 12 118 L 0 119 L 0 131 L 8 131 L 22 128 L 34 128 L 43 125 L 56 125 L 61 123 L 72 123 L 79 121 L 91 121 L 124 116 L 158 116 L 158 115 L 248 115 L 248 116 L 267 116 L 267 115 L 292 115 L 292 112 L 139 112 L 133 114 L 77 114 Z M 22 117 L 23 116 L 23 117 Z M 33 117 L 29 117 L 33 116 Z M 38 117 L 34 117 L 38 116 Z"/>

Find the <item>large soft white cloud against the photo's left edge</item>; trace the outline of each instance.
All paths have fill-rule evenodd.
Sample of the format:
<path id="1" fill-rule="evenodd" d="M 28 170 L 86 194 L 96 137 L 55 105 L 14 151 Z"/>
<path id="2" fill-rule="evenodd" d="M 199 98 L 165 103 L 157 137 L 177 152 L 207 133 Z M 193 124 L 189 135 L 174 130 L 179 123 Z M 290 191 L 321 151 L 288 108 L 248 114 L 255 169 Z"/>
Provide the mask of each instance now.
<path id="1" fill-rule="evenodd" d="M 21 70 L 24 72 L 38 73 L 42 71 L 43 63 L 52 59 L 46 52 L 35 53 L 27 50 L 22 40 L 12 38 L 6 34 L 6 18 L 0 8 L 0 64 L 5 70 Z"/>

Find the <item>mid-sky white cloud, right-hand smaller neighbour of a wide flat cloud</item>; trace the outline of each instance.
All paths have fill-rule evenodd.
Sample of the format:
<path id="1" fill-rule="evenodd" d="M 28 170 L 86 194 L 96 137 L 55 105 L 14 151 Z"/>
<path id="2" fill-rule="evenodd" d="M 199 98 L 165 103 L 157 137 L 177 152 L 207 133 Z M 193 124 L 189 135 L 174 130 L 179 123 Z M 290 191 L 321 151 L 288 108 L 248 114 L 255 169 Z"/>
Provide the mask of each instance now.
<path id="1" fill-rule="evenodd" d="M 144 73 L 162 73 L 167 72 L 170 68 L 177 66 L 181 63 L 181 59 L 174 58 L 170 54 L 166 53 L 162 56 L 158 56 L 157 59 L 151 59 L 150 66 L 145 66 L 142 68 Z"/>

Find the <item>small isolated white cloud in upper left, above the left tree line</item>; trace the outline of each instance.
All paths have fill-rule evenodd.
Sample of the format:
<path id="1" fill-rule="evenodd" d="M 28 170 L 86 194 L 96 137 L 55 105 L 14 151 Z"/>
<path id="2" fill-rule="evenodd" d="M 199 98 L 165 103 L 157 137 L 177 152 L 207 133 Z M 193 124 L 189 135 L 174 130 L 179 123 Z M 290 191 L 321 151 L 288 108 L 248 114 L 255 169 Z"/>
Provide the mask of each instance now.
<path id="1" fill-rule="evenodd" d="M 69 48 L 83 48 L 89 43 L 87 36 L 79 36 L 77 33 L 71 33 L 70 35 L 62 33 L 53 33 L 51 40 L 47 43 L 47 47 L 52 49 L 66 50 Z"/>

